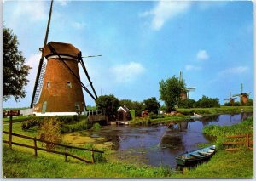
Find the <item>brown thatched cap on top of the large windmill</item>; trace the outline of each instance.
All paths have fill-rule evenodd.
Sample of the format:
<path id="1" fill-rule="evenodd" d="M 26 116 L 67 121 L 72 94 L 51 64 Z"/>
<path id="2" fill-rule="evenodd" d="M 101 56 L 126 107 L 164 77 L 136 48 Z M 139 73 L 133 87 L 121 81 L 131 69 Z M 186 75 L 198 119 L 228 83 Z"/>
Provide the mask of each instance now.
<path id="1" fill-rule="evenodd" d="M 52 52 L 52 50 L 49 47 L 54 48 L 55 52 Z M 47 59 L 49 56 L 52 55 L 67 55 L 71 56 L 74 59 L 80 59 L 81 58 L 81 51 L 78 48 L 75 48 L 70 43 L 65 42 L 49 42 L 43 49 L 43 55 Z"/>

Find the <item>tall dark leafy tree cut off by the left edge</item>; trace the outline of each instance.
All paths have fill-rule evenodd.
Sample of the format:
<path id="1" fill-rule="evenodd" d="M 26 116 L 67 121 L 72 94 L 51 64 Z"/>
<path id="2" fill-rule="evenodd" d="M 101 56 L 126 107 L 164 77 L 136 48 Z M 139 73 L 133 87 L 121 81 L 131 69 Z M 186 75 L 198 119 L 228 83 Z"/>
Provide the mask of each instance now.
<path id="1" fill-rule="evenodd" d="M 25 58 L 18 50 L 17 36 L 9 28 L 3 27 L 3 100 L 14 96 L 15 101 L 25 98 L 26 76 L 31 69 L 24 65 Z"/>

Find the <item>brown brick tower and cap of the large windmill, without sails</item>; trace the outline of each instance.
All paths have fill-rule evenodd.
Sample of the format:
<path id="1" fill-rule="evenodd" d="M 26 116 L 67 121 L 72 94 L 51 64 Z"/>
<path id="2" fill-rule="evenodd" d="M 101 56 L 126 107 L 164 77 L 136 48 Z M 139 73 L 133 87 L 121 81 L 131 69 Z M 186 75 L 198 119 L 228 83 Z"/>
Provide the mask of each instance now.
<path id="1" fill-rule="evenodd" d="M 54 53 L 49 46 L 54 48 Z M 74 115 L 84 111 L 84 95 L 81 83 L 76 78 L 80 78 L 79 49 L 68 43 L 49 42 L 43 49 L 43 55 L 47 59 L 47 65 L 40 98 L 33 109 L 34 114 Z"/>

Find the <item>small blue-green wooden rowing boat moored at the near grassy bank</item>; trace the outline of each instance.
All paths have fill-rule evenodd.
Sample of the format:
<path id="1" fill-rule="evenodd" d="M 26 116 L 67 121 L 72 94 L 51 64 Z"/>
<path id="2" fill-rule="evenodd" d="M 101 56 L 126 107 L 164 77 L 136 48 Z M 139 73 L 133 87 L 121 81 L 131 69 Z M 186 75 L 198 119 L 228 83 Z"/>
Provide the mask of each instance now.
<path id="1" fill-rule="evenodd" d="M 191 166 L 201 161 L 207 161 L 214 155 L 215 152 L 215 145 L 211 145 L 206 148 L 183 153 L 179 156 L 176 156 L 175 159 L 177 165 Z"/>

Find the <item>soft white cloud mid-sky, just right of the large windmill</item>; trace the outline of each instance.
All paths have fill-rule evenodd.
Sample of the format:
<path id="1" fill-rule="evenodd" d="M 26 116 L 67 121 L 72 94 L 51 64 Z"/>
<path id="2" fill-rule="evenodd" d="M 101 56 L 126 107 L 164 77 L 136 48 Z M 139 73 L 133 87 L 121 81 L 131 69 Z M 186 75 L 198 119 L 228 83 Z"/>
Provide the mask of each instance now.
<path id="1" fill-rule="evenodd" d="M 136 62 L 115 65 L 110 68 L 110 72 L 116 82 L 132 82 L 137 76 L 142 74 L 143 71 L 145 71 L 143 65 Z"/>

